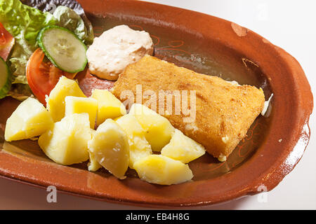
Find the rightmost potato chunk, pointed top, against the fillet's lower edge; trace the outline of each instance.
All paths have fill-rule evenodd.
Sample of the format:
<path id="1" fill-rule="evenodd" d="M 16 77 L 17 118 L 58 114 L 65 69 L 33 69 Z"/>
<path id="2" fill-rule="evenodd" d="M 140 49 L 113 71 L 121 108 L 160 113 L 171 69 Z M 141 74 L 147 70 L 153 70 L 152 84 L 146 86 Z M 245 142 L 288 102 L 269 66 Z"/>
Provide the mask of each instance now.
<path id="1" fill-rule="evenodd" d="M 187 163 L 205 154 L 205 148 L 196 141 L 186 137 L 180 130 L 173 133 L 173 136 L 166 146 L 162 148 L 162 155 L 173 160 L 180 160 Z"/>

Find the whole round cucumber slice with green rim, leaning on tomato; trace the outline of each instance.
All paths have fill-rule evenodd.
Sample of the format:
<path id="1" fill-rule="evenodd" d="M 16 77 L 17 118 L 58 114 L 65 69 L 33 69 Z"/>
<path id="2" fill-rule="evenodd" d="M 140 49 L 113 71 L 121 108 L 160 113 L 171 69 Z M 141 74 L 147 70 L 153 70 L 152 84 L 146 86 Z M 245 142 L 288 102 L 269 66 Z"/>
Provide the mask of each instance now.
<path id="1" fill-rule="evenodd" d="M 72 31 L 58 26 L 45 27 L 39 32 L 37 41 L 58 69 L 69 73 L 85 69 L 88 63 L 86 45 Z"/>

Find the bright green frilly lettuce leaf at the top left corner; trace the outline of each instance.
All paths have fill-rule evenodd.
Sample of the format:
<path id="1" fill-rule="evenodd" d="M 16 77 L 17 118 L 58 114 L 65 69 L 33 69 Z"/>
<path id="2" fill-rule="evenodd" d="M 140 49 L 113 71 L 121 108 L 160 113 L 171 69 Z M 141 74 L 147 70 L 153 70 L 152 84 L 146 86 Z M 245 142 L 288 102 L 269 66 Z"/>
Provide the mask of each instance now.
<path id="1" fill-rule="evenodd" d="M 37 49 L 37 35 L 42 28 L 55 25 L 51 13 L 23 5 L 19 0 L 0 0 L 0 22 L 14 36 L 11 70 L 14 76 L 25 76 L 27 60 Z"/>

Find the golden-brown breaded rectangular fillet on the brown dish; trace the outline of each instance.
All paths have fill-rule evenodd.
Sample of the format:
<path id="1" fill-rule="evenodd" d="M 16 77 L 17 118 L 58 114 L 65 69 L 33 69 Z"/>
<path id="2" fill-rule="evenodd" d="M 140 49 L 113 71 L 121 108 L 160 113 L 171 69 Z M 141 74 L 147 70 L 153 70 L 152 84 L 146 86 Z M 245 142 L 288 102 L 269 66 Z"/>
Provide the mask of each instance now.
<path id="1" fill-rule="evenodd" d="M 136 86 L 138 93 L 141 91 L 143 95 L 147 94 L 147 99 L 143 97 L 142 102 L 137 103 L 148 106 L 148 95 L 156 94 L 157 106 L 150 104 L 149 107 L 169 119 L 174 127 L 202 144 L 208 153 L 219 160 L 225 160 L 239 141 L 246 137 L 246 132 L 263 111 L 265 103 L 262 89 L 250 85 L 235 85 L 222 78 L 196 73 L 148 55 L 126 67 L 114 83 L 112 92 L 121 101 L 126 100 L 122 99 L 126 91 L 133 92 L 132 99 L 135 103 Z M 169 91 L 171 96 L 174 92 L 183 93 L 187 90 L 187 102 L 183 101 L 186 100 L 185 94 L 181 95 L 180 114 L 176 114 L 178 104 L 175 103 L 175 95 L 172 111 L 162 113 L 163 110 L 158 110 L 162 102 L 167 110 L 167 97 L 163 101 L 160 97 L 159 104 L 159 90 Z M 195 99 L 191 98 L 194 94 Z M 191 117 L 195 106 L 194 120 L 185 120 L 189 117 L 183 107 L 186 103 L 188 110 L 191 110 Z"/>

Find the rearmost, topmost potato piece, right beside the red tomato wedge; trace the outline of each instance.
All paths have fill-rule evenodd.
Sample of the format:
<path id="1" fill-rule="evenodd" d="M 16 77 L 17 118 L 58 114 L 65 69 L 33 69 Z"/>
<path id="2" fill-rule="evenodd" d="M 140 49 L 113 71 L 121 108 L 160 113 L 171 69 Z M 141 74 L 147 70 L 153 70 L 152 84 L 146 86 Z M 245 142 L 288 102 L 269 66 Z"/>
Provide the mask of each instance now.
<path id="1" fill-rule="evenodd" d="M 46 98 L 46 107 L 54 122 L 60 121 L 65 116 L 65 97 L 67 96 L 86 97 L 75 80 L 62 76 Z"/>

